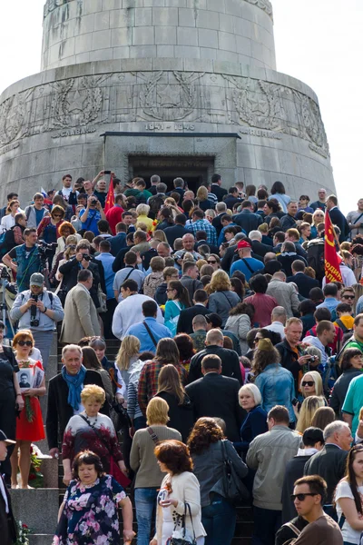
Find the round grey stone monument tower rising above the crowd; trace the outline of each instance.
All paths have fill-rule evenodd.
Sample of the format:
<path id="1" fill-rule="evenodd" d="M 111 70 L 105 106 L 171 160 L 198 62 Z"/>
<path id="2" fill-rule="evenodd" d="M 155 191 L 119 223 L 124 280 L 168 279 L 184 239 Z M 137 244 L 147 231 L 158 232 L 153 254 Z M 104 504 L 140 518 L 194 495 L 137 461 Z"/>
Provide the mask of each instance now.
<path id="1" fill-rule="evenodd" d="M 103 168 L 334 191 L 318 98 L 276 71 L 269 0 L 46 0 L 42 72 L 0 96 L 0 198 Z"/>

